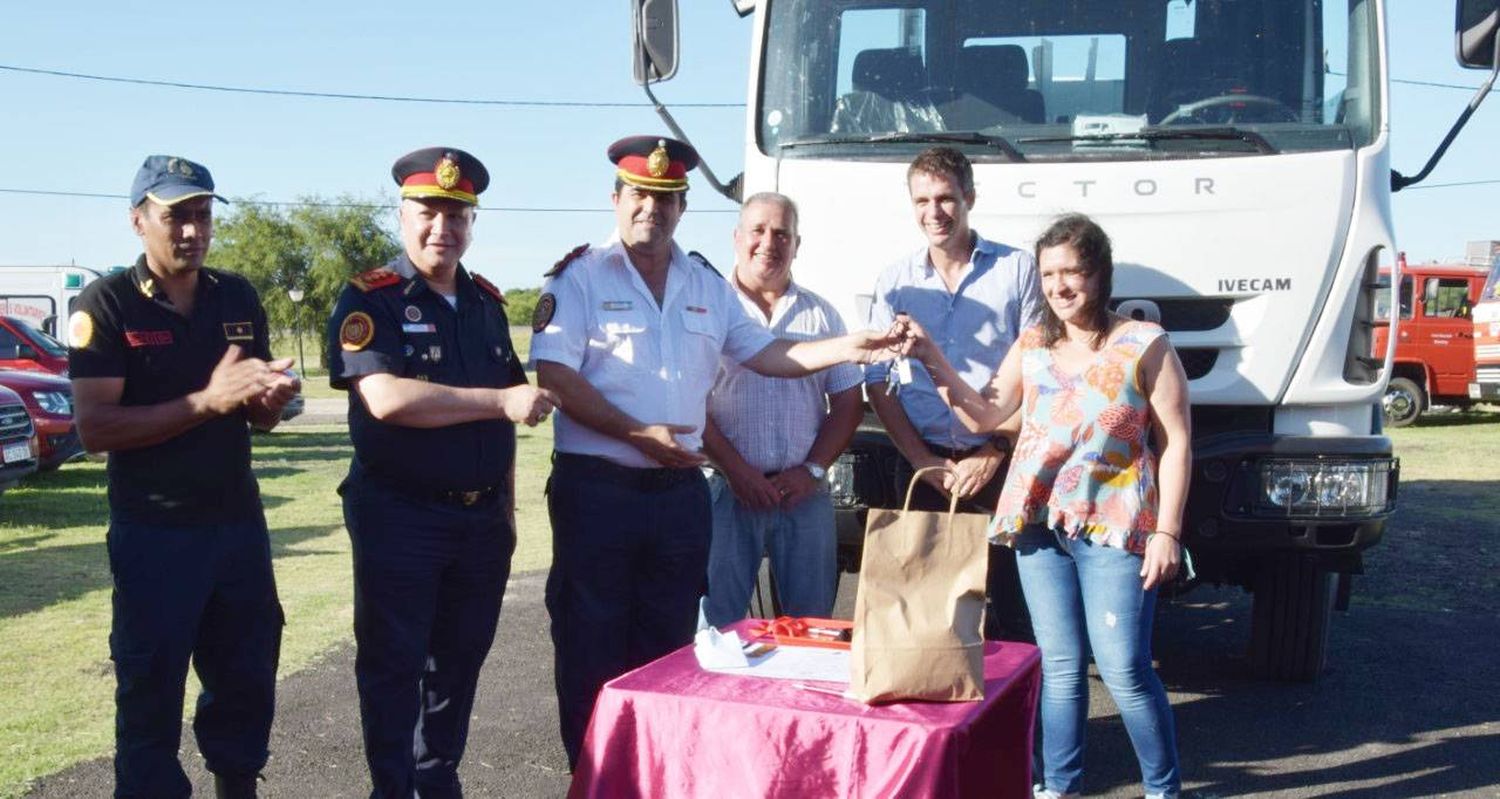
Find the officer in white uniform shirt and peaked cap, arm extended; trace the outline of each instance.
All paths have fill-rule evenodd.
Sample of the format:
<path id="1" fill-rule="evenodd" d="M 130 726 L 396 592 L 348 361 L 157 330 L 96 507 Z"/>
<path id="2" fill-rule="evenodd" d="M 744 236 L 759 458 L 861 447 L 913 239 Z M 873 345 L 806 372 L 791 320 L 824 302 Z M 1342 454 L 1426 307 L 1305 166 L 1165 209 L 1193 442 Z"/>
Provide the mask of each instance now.
<path id="1" fill-rule="evenodd" d="M 546 598 L 572 765 L 598 688 L 693 639 L 712 523 L 699 447 L 718 358 L 801 376 L 892 343 L 868 333 L 774 339 L 706 261 L 672 241 L 693 147 L 632 136 L 609 160 L 616 232 L 554 267 L 531 325 L 537 382 L 562 408 Z"/>

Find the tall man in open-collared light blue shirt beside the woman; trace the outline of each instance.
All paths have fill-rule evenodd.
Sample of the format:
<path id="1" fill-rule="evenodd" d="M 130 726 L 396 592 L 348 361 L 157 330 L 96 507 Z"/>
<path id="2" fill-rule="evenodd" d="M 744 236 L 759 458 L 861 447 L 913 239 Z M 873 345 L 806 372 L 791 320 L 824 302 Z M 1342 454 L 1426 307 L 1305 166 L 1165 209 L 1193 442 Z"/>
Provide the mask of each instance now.
<path id="1" fill-rule="evenodd" d="M 1041 303 L 1036 262 L 1029 252 L 986 240 L 969 226 L 974 166 L 963 153 L 951 147 L 922 151 L 906 171 L 906 187 L 927 246 L 876 280 L 868 327 L 886 330 L 897 313 L 910 315 L 939 342 L 964 382 L 982 391 L 1035 318 Z M 886 393 L 890 364 L 873 364 L 864 373 L 870 405 L 906 459 L 896 475 L 900 495 L 915 469 L 942 466 L 946 471 L 922 475 L 914 508 L 948 510 L 957 495 L 960 511 L 993 514 L 1008 441 L 964 429 L 926 369 L 916 361 L 910 367 L 912 382 L 897 393 Z M 1016 555 L 1006 547 L 990 547 L 988 589 L 986 636 L 1029 640 Z"/>

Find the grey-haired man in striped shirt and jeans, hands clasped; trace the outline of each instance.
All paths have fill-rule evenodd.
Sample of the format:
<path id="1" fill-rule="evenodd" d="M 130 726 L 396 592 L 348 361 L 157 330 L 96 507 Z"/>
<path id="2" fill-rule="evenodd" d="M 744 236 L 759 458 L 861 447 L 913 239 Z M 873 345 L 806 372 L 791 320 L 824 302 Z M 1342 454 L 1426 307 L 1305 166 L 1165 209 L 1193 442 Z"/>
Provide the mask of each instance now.
<path id="1" fill-rule="evenodd" d="M 747 199 L 729 276 L 736 297 L 772 336 L 842 336 L 838 312 L 792 282 L 798 244 L 790 198 L 766 192 Z M 837 541 L 825 477 L 860 424 L 860 382 L 854 364 L 783 379 L 720 361 L 704 430 L 704 451 L 717 466 L 710 480 L 714 534 L 704 607 L 710 624 L 744 618 L 766 550 L 783 613 L 832 610 Z"/>

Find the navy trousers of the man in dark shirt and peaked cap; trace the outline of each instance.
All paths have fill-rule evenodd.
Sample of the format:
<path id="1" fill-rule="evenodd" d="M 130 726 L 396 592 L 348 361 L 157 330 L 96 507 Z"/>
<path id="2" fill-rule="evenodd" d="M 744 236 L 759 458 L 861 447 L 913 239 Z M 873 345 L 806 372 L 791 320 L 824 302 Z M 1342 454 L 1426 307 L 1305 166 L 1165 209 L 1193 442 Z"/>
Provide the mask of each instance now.
<path id="1" fill-rule="evenodd" d="M 516 549 L 510 499 L 458 505 L 354 477 L 339 492 L 354 543 L 354 676 L 370 796 L 462 796 L 458 765 Z"/>

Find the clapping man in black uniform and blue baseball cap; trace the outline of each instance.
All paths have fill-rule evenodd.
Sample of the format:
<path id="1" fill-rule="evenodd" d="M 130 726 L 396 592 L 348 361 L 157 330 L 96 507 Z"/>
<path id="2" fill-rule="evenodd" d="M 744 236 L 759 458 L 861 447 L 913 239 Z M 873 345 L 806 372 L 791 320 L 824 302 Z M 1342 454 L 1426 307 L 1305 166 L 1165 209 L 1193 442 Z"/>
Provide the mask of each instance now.
<path id="1" fill-rule="evenodd" d="M 249 426 L 273 427 L 298 385 L 250 283 L 202 265 L 214 199 L 201 165 L 146 159 L 130 190 L 146 252 L 69 318 L 78 432 L 110 453 L 116 796 L 192 793 L 177 760 L 189 661 L 218 796 L 255 796 L 268 756 L 282 612 Z"/>

